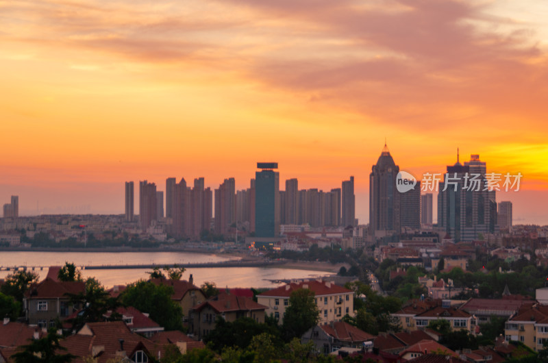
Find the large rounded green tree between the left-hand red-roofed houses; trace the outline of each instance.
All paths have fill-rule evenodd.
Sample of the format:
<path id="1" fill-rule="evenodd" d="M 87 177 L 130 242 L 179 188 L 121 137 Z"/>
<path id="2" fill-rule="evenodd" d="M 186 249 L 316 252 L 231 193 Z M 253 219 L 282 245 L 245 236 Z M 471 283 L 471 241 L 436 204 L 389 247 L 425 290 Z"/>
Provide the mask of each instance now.
<path id="1" fill-rule="evenodd" d="M 183 310 L 181 305 L 171 300 L 171 295 L 171 286 L 139 280 L 127 286 L 121 301 L 124 305 L 149 313 L 150 318 L 166 330 L 182 330 Z"/>

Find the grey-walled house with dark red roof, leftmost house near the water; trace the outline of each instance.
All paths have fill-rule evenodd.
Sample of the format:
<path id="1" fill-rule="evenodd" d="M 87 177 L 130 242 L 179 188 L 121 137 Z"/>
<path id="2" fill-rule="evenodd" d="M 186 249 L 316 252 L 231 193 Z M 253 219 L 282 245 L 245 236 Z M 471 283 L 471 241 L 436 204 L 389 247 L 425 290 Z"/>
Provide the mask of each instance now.
<path id="1" fill-rule="evenodd" d="M 81 308 L 70 295 L 86 292 L 83 281 L 55 281 L 49 277 L 34 284 L 23 297 L 23 309 L 29 325 L 53 327 L 57 318 L 66 318 Z"/>

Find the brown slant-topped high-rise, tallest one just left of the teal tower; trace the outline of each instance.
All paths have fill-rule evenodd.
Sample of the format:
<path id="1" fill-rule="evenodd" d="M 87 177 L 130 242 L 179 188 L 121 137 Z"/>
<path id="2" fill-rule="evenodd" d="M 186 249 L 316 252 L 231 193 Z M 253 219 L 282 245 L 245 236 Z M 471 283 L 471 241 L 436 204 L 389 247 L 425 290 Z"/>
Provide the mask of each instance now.
<path id="1" fill-rule="evenodd" d="M 233 177 L 225 179 L 219 189 L 215 189 L 215 232 L 227 234 L 236 223 L 236 182 Z"/>

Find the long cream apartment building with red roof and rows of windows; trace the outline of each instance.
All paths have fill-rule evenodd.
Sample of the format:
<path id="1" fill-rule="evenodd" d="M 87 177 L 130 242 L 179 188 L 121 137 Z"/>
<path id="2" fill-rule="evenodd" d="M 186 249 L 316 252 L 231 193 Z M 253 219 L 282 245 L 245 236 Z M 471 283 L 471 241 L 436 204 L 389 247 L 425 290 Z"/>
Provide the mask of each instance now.
<path id="1" fill-rule="evenodd" d="M 314 292 L 314 299 L 320 310 L 320 324 L 340 321 L 346 314 L 354 316 L 354 292 L 332 281 L 310 280 L 286 284 L 258 295 L 258 303 L 265 305 L 266 314 L 272 314 L 281 324 L 289 306 L 291 292 L 300 288 Z"/>

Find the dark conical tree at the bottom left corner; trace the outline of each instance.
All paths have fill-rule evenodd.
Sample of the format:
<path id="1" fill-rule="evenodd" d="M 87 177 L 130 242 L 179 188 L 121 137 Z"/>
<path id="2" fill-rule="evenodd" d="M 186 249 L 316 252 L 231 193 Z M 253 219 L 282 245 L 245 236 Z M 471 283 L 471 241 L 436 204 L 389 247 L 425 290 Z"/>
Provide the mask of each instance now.
<path id="1" fill-rule="evenodd" d="M 50 329 L 47 336 L 41 339 L 32 340 L 28 345 L 20 347 L 21 351 L 12 355 L 16 363 L 64 363 L 71 362 L 75 355 L 64 353 L 65 347 L 59 345 L 62 336 Z"/>

